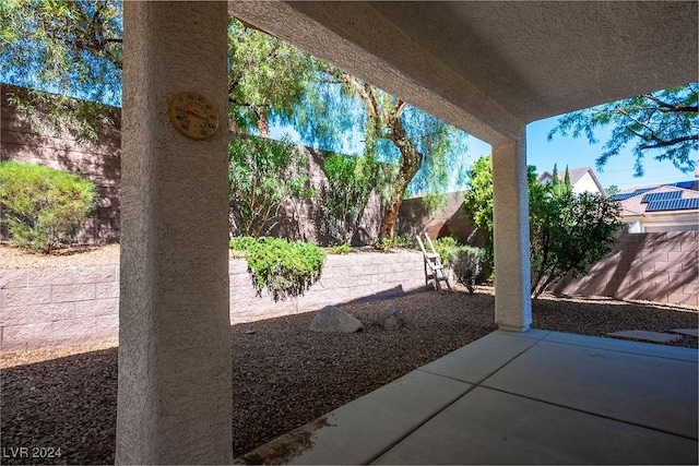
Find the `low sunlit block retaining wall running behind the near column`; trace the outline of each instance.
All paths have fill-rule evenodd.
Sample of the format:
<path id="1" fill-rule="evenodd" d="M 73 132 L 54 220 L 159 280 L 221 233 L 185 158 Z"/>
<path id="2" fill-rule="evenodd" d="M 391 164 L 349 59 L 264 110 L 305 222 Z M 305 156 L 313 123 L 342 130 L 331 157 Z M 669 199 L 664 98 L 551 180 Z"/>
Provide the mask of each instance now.
<path id="1" fill-rule="evenodd" d="M 274 300 L 252 287 L 247 263 L 233 260 L 230 323 L 318 310 L 357 299 L 399 295 L 425 286 L 416 252 L 330 255 L 304 296 Z M 5 353 L 116 342 L 119 266 L 0 270 L 0 349 Z"/>

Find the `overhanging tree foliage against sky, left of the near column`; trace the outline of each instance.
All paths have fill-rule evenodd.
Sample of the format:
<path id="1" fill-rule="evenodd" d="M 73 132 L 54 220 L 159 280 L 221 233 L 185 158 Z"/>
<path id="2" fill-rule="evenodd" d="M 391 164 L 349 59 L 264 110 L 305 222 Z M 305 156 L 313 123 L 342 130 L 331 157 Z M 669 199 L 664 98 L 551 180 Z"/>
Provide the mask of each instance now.
<path id="1" fill-rule="evenodd" d="M 3 0 L 0 68 L 5 82 L 60 89 L 20 89 L 9 101 L 40 131 L 94 141 L 96 124 L 112 123 L 121 95 L 121 2 Z M 81 96 L 75 100 L 70 96 Z"/>

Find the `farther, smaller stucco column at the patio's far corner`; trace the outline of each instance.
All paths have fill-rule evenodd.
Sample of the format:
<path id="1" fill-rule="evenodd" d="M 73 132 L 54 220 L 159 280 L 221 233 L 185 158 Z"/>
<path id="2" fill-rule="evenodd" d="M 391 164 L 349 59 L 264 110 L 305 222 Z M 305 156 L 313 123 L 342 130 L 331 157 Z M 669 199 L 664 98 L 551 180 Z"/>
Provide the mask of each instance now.
<path id="1" fill-rule="evenodd" d="M 532 323 L 525 134 L 493 144 L 495 321 L 513 332 Z"/>

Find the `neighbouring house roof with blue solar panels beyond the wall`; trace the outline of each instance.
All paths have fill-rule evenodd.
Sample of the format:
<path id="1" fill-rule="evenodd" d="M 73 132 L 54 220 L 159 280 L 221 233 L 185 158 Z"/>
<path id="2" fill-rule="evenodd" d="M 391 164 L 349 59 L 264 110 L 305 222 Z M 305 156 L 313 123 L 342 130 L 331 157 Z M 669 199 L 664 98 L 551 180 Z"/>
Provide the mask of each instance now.
<path id="1" fill-rule="evenodd" d="M 632 188 L 612 194 L 620 201 L 621 216 L 697 215 L 699 213 L 699 180 Z"/>

